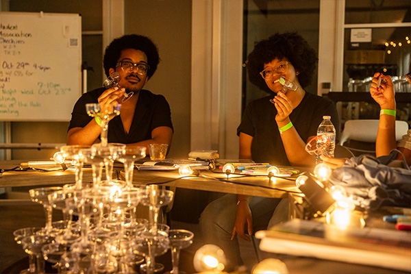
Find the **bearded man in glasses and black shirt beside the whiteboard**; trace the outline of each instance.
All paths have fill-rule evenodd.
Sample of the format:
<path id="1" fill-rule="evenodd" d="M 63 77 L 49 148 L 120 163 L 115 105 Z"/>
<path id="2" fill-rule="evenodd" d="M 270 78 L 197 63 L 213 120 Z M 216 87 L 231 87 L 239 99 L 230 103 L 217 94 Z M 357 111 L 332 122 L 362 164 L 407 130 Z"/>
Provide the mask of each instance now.
<path id="1" fill-rule="evenodd" d="M 67 145 L 99 142 L 99 118 L 86 112 L 86 103 L 99 103 L 101 112 L 112 112 L 121 104 L 120 115 L 108 123 L 108 142 L 147 147 L 168 144 L 173 136 L 169 103 L 162 95 L 142 89 L 157 69 L 160 57 L 155 44 L 136 34 L 114 39 L 105 49 L 105 75 L 118 73 L 119 86 L 86 92 L 75 103 L 67 134 Z"/>

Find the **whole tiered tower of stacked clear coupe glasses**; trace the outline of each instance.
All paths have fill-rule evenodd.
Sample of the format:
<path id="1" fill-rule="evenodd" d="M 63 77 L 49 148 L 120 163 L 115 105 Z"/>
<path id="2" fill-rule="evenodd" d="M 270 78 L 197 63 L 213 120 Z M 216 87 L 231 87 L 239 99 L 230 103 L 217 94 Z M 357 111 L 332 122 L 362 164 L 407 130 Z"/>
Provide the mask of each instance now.
<path id="1" fill-rule="evenodd" d="M 29 269 L 23 272 L 45 273 L 47 260 L 58 273 L 162 273 L 164 266 L 155 257 L 171 247 L 171 273 L 179 273 L 179 250 L 190 245 L 193 234 L 158 221 L 173 192 L 156 185 L 134 186 L 134 162 L 145 158 L 146 147 L 108 142 L 108 121 L 119 114 L 118 106 L 110 114 L 101 113 L 98 104 L 88 104 L 86 110 L 101 119 L 101 142 L 61 147 L 73 162 L 73 184 L 29 190 L 32 201 L 44 206 L 46 224 L 14 232 L 29 254 Z M 124 181 L 112 179 L 114 161 L 124 164 Z M 92 182 L 83 182 L 85 165 L 92 167 Z M 139 204 L 148 207 L 148 220 L 138 216 Z M 53 222 L 52 210 L 62 210 L 63 220 Z"/>

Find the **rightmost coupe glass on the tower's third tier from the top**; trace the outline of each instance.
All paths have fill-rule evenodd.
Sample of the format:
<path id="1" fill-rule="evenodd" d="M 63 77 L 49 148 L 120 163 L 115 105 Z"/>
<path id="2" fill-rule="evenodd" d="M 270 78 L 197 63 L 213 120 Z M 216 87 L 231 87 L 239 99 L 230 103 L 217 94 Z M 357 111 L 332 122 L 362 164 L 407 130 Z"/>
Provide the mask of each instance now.
<path id="1" fill-rule="evenodd" d="M 173 191 L 160 188 L 154 184 L 142 188 L 140 203 L 149 207 L 149 230 L 153 234 L 158 229 L 158 212 L 160 212 L 160 208 L 171 203 L 173 197 Z"/>

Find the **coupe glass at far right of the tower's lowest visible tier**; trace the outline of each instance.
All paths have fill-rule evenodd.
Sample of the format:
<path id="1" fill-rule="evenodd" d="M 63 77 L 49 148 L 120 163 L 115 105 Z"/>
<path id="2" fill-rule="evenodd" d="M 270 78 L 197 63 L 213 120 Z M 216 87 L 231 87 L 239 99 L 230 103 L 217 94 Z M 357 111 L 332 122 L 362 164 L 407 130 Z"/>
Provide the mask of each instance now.
<path id="1" fill-rule="evenodd" d="M 179 274 L 179 255 L 180 251 L 192 244 L 192 237 L 194 234 L 184 229 L 170 229 L 169 240 L 171 249 L 171 262 L 173 263 L 173 270 L 168 274 Z"/>

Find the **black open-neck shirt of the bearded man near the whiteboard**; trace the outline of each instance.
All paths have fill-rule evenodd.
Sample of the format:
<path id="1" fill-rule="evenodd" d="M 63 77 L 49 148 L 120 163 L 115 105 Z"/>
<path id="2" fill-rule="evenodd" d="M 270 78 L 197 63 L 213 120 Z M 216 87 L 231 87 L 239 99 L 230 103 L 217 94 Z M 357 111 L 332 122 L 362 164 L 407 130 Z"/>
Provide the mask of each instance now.
<path id="1" fill-rule="evenodd" d="M 86 103 L 98 103 L 97 99 L 104 90 L 98 88 L 86 92 L 77 100 L 71 113 L 69 129 L 85 127 L 93 119 L 86 112 Z M 131 144 L 148 140 L 151 139 L 151 131 L 162 126 L 173 129 L 169 103 L 162 95 L 154 95 L 149 90 L 140 90 L 129 133 L 125 132 L 120 116 L 116 116 L 108 123 L 108 142 Z"/>

